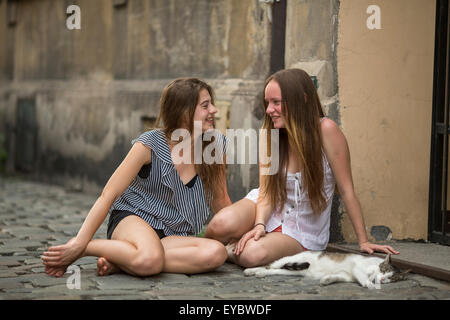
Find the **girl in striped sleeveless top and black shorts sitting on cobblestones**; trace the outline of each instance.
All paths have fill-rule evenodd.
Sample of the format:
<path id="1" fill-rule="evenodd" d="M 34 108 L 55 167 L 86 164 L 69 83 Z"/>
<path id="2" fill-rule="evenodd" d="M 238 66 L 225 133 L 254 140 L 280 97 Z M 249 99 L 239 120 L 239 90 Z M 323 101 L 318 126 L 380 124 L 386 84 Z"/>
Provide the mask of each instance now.
<path id="1" fill-rule="evenodd" d="M 84 256 L 99 257 L 97 272 L 101 276 L 119 271 L 136 276 L 192 274 L 213 270 L 225 262 L 227 252 L 222 243 L 195 236 L 210 209 L 217 212 L 231 204 L 224 162 L 195 164 L 194 152 L 187 161 L 179 161 L 177 152 L 172 153 L 177 147 L 172 141 L 176 129 L 184 129 L 191 137 L 182 153 L 192 150 L 194 141 L 203 144 L 202 133 L 214 128 L 217 110 L 213 98 L 212 88 L 195 78 L 176 79 L 164 88 L 157 121 L 162 122 L 162 128 L 132 141 L 133 147 L 77 236 L 44 252 L 48 275 L 62 276 L 70 264 Z M 197 136 L 193 136 L 194 122 L 201 125 Z M 224 147 L 224 137 L 216 136 L 212 143 Z M 91 240 L 108 212 L 108 239 Z"/>

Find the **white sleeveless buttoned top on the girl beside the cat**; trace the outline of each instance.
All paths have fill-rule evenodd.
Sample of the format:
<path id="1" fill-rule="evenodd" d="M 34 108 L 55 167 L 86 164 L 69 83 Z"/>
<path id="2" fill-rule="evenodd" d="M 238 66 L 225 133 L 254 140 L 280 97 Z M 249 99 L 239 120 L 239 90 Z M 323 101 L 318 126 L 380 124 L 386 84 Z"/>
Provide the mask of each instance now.
<path id="1" fill-rule="evenodd" d="M 325 250 L 330 238 L 330 214 L 336 181 L 325 153 L 322 151 L 324 168 L 323 188 L 327 202 L 326 209 L 314 214 L 307 191 L 302 186 L 301 172 L 287 173 L 287 199 L 280 211 L 270 215 L 266 231 L 271 232 L 280 225 L 283 234 L 296 239 L 308 250 Z M 256 203 L 259 189 L 251 190 L 245 197 Z"/>

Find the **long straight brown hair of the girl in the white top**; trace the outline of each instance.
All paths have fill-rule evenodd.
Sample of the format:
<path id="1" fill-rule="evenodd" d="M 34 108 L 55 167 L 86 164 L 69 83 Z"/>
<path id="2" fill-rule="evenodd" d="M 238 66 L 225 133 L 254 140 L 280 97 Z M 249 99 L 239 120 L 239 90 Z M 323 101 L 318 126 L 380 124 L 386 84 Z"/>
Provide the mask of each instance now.
<path id="1" fill-rule="evenodd" d="M 302 182 L 308 192 L 311 208 L 314 213 L 320 214 L 326 208 L 326 199 L 323 193 L 324 168 L 320 131 L 320 118 L 324 116 L 324 112 L 319 96 L 310 76 L 301 69 L 286 69 L 274 73 L 267 78 L 264 91 L 272 80 L 277 82 L 281 89 L 285 128 L 279 129 L 280 169 L 274 175 L 260 177 L 261 196 L 269 197 L 272 209 L 282 209 L 287 198 L 288 150 L 292 148 L 298 161 L 303 165 Z M 266 110 L 267 103 L 264 96 L 263 92 L 263 106 Z M 277 146 L 270 146 L 270 129 L 274 126 L 267 113 L 262 128 L 269 129 L 267 143 L 273 150 L 273 147 Z"/>

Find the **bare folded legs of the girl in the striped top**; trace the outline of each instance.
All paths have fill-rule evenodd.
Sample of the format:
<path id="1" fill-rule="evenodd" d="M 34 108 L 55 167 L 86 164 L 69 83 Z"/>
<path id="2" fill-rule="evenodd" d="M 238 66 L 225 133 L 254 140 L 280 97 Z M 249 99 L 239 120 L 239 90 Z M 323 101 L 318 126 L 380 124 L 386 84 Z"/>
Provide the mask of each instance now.
<path id="1" fill-rule="evenodd" d="M 99 257 L 99 275 L 120 270 L 131 275 L 149 276 L 164 272 L 200 273 L 221 266 L 227 253 L 217 240 L 170 236 L 159 239 L 141 218 L 128 216 L 116 227 L 111 240 L 95 239 L 82 256 Z M 67 266 L 54 265 L 48 274 L 62 276 Z"/>

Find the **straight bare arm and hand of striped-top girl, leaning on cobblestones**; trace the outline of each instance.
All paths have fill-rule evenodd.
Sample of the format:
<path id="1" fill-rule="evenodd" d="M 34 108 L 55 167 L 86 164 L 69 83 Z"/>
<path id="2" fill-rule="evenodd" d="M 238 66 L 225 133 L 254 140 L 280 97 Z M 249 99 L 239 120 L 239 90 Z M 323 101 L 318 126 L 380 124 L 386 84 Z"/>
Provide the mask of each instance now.
<path id="1" fill-rule="evenodd" d="M 100 197 L 95 201 L 78 234 L 64 245 L 50 247 L 44 252 L 47 266 L 57 267 L 71 264 L 86 249 L 89 241 L 105 220 L 113 202 L 126 190 L 144 164 L 151 162 L 151 152 L 141 143 L 135 143 L 125 159 L 106 183 Z"/>

